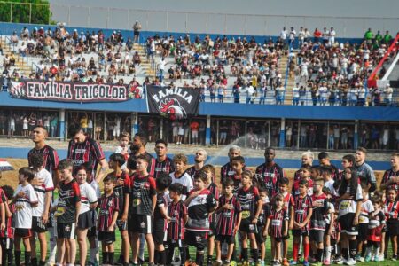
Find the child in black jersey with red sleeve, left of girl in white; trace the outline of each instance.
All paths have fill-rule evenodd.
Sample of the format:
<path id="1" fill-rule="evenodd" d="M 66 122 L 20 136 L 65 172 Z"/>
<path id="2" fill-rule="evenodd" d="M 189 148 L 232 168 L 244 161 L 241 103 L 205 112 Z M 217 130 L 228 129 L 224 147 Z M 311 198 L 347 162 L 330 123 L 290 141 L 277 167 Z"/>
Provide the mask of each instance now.
<path id="1" fill-rule="evenodd" d="M 81 191 L 73 174 L 74 162 L 69 159 L 59 161 L 59 203 L 57 205 L 57 263 L 66 261 L 74 265 L 76 258 L 75 229 L 81 209 Z M 66 242 L 69 249 L 66 256 Z"/>

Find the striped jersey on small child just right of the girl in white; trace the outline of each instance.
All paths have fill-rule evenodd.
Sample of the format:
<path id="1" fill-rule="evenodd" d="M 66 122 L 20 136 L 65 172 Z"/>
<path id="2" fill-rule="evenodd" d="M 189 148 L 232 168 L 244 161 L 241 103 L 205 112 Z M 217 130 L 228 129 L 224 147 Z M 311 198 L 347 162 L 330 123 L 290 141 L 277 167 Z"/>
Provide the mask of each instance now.
<path id="1" fill-rule="evenodd" d="M 98 231 L 107 231 L 108 227 L 113 223 L 113 214 L 120 211 L 118 201 L 115 193 L 109 196 L 103 194 L 98 200 Z"/>

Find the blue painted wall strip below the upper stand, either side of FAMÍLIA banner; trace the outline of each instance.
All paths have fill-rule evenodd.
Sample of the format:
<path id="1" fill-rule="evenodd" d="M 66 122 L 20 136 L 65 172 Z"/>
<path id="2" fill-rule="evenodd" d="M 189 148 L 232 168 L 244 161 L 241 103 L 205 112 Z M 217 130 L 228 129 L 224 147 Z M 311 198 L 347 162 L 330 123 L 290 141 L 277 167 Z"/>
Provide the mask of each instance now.
<path id="1" fill-rule="evenodd" d="M 12 98 L 6 92 L 0 93 L 0 106 L 147 113 L 144 99 L 129 99 L 117 103 L 65 103 Z M 268 106 L 201 102 L 200 115 L 277 119 L 284 117 L 286 119 L 309 120 L 399 121 L 399 109 L 397 107 L 382 106 Z"/>

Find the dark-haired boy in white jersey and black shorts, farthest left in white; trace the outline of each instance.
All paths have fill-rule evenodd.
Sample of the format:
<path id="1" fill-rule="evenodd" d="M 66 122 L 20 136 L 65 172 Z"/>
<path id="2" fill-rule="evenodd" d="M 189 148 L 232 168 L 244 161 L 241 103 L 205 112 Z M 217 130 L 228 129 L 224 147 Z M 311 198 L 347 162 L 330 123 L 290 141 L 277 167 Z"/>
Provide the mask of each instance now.
<path id="1" fill-rule="evenodd" d="M 15 264 L 20 266 L 20 239 L 25 246 L 25 265 L 30 265 L 30 238 L 32 237 L 32 212 L 33 207 L 38 205 L 35 189 L 29 184 L 35 178 L 35 170 L 33 168 L 20 168 L 18 171 L 19 185 L 14 192 L 12 201 L 15 202 Z M 4 212 L 4 202 L 1 202 Z M 4 227 L 4 219 L 2 220 Z"/>

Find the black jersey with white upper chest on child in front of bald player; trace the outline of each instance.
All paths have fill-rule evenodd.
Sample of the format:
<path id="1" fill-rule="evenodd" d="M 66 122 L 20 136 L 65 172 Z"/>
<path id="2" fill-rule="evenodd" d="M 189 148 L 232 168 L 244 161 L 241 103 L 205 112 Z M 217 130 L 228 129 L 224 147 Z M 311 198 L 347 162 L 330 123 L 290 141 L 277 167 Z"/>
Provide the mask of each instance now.
<path id="1" fill-rule="evenodd" d="M 195 192 L 195 190 L 192 190 Z M 209 231 L 209 211 L 216 207 L 214 194 L 205 189 L 194 197 L 188 207 L 187 231 Z"/>

